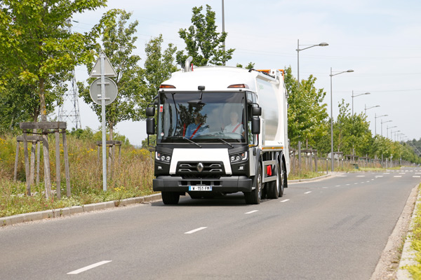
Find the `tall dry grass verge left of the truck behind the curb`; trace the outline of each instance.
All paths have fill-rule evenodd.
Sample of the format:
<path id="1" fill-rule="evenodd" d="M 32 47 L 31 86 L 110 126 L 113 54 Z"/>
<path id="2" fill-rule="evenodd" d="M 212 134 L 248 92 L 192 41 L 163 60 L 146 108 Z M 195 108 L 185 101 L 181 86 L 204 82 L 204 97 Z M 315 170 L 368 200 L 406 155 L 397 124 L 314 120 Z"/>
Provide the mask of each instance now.
<path id="1" fill-rule="evenodd" d="M 55 183 L 55 141 L 49 138 L 51 181 L 53 191 Z M 118 160 L 116 149 L 112 170 L 107 171 L 107 192 L 102 190 L 102 159 L 98 159 L 95 141 L 67 137 L 69 154 L 70 184 L 72 196 L 63 197 L 66 193 L 65 168 L 63 163 L 63 148 L 60 144 L 60 190 L 62 199 L 52 196 L 46 199 L 44 195 L 44 166 L 40 165 L 40 183 L 32 186 L 32 196 L 25 195 L 25 164 L 23 145 L 20 145 L 18 162 L 18 180 L 13 181 L 16 140 L 11 136 L 0 136 L 0 217 L 15 214 L 42 211 L 46 209 L 70 207 L 121 200 L 128 197 L 138 197 L 152 194 L 152 179 L 154 176 L 153 160 L 149 151 L 135 149 L 131 145 L 121 147 L 121 158 Z M 28 145 L 29 155 L 32 144 Z M 102 154 L 102 153 L 101 153 Z"/>

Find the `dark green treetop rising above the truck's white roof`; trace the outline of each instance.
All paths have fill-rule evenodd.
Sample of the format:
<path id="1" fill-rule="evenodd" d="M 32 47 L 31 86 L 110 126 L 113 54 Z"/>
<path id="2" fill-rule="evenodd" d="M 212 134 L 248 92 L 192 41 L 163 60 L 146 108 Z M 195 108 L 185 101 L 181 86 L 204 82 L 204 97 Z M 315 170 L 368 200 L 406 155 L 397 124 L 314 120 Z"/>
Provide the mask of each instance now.
<path id="1" fill-rule="evenodd" d="M 222 43 L 227 38 L 227 32 L 216 31 L 215 12 L 209 5 L 206 5 L 206 15 L 201 11 L 203 6 L 193 7 L 192 24 L 189 29 L 180 29 L 178 34 L 185 41 L 186 52 L 177 52 L 177 63 L 185 66 L 187 57 L 192 56 L 192 63 L 196 66 L 208 64 L 224 65 L 232 58 L 234 49 L 223 50 Z"/>

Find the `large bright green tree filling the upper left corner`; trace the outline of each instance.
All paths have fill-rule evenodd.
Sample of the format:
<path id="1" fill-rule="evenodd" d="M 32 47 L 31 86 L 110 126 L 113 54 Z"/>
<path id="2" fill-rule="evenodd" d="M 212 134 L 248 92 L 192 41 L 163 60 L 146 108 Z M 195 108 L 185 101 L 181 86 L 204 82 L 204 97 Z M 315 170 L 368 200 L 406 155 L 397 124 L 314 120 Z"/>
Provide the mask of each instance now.
<path id="1" fill-rule="evenodd" d="M 6 85 L 25 87 L 25 102 L 35 102 L 32 119 L 46 121 L 48 106 L 60 100 L 60 83 L 69 79 L 77 64 L 87 62 L 90 34 L 71 33 L 69 18 L 74 13 L 105 6 L 106 0 L 4 0 L 0 10 L 1 90 Z M 14 77 L 18 77 L 15 79 Z M 22 94 L 20 90 L 9 93 Z M 35 97 L 38 95 L 38 99 Z M 38 103 L 39 102 L 39 103 Z M 38 104 L 37 104 L 38 103 Z"/>

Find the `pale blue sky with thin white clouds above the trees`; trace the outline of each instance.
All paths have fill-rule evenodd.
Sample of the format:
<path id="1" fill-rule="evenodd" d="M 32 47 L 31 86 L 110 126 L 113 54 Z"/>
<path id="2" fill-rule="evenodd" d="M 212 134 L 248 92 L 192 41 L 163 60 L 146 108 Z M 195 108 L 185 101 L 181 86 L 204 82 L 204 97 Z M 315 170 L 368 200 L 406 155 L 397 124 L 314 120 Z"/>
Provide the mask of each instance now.
<path id="1" fill-rule="evenodd" d="M 173 43 L 183 50 L 178 31 L 192 25 L 194 6 L 205 10 L 206 4 L 215 11 L 218 31 L 222 31 L 222 0 L 109 0 L 106 8 L 74 15 L 77 22 L 73 22 L 72 31 L 89 31 L 111 8 L 132 12 L 132 20 L 139 22 L 134 53 L 145 61 L 145 44 L 159 34 L 163 35 L 163 48 Z M 300 49 L 326 42 L 328 46 L 300 51 L 299 68 L 301 79 L 315 76 L 315 86 L 326 92 L 329 115 L 330 93 L 336 119 L 342 99 L 351 109 L 352 94 L 370 92 L 354 97 L 354 112 L 369 108 L 366 113 L 373 134 L 382 132 L 390 138 L 391 132 L 396 132 L 393 140 L 420 139 L 420 12 L 419 0 L 225 0 L 226 46 L 235 49 L 227 65 L 253 62 L 255 69 L 291 66 L 297 76 L 298 40 Z M 332 76 L 332 87 L 330 69 L 333 75 L 338 74 Z M 340 73 L 349 69 L 354 72 Z M 86 83 L 86 67 L 78 66 L 75 72 L 76 80 Z M 79 109 L 82 127 L 98 130 L 100 120 L 82 99 Z M 116 131 L 134 145 L 147 137 L 145 122 L 125 121 L 116 125 Z"/>

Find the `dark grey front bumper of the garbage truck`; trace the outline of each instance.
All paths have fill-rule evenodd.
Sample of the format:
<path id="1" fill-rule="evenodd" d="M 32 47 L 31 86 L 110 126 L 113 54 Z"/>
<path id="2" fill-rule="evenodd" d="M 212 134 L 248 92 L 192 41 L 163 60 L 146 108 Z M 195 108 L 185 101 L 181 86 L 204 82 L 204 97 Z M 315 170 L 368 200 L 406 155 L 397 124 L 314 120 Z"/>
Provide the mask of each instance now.
<path id="1" fill-rule="evenodd" d="M 247 176 L 222 176 L 212 178 L 182 179 L 180 176 L 157 176 L 154 191 L 188 192 L 191 186 L 211 186 L 215 193 L 250 192 L 252 179 Z"/>

